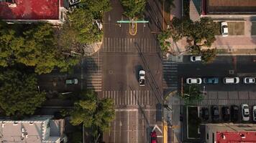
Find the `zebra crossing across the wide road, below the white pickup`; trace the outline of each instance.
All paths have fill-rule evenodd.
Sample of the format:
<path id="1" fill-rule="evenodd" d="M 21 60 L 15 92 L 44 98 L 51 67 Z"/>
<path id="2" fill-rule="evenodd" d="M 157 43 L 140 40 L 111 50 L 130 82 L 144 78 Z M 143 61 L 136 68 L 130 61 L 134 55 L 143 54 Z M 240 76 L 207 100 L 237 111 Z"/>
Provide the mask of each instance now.
<path id="1" fill-rule="evenodd" d="M 154 94 L 150 90 L 103 91 L 102 98 L 114 100 L 114 105 L 152 105 Z"/>

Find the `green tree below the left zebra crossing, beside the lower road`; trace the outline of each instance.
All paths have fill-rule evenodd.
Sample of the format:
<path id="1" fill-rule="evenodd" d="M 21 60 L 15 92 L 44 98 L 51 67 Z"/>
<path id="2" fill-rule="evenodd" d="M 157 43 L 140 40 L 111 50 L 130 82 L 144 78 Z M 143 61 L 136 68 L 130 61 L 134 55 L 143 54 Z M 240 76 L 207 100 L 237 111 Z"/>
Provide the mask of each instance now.
<path id="1" fill-rule="evenodd" d="M 87 91 L 81 94 L 81 100 L 75 102 L 70 112 L 70 123 L 83 124 L 92 129 L 91 135 L 96 137 L 99 132 L 109 129 L 109 123 L 114 119 L 114 104 L 111 99 L 98 99 L 96 92 Z"/>

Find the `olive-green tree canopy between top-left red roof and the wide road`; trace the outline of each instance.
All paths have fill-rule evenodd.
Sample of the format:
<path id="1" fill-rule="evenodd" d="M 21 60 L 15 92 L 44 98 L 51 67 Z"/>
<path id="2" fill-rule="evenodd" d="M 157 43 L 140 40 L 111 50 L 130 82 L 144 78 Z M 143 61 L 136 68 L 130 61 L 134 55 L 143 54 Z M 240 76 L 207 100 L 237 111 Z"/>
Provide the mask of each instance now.
<path id="1" fill-rule="evenodd" d="M 68 19 L 58 34 L 58 45 L 83 52 L 84 45 L 101 41 L 103 31 L 94 19 L 103 19 L 104 12 L 110 9 L 109 0 L 81 0 L 78 8 L 68 12 Z"/>

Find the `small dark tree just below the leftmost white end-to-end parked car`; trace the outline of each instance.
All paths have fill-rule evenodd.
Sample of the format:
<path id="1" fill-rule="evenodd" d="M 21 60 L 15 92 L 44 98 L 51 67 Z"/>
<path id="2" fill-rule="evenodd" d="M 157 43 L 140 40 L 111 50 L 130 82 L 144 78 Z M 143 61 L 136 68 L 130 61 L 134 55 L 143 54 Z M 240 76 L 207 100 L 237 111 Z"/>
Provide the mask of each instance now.
<path id="1" fill-rule="evenodd" d="M 183 98 L 187 104 L 190 104 L 196 101 L 200 102 L 204 99 L 204 96 L 199 87 L 195 85 L 186 85 L 183 87 L 183 96 L 181 98 Z"/>

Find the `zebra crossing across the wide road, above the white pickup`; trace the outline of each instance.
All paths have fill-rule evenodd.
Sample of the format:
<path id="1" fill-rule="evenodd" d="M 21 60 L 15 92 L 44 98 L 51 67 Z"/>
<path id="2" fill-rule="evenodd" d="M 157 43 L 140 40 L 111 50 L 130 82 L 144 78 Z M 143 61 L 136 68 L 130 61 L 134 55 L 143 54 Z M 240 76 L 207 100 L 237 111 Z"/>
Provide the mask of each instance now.
<path id="1" fill-rule="evenodd" d="M 157 40 L 148 38 L 105 37 L 101 52 L 155 53 L 160 51 Z"/>

